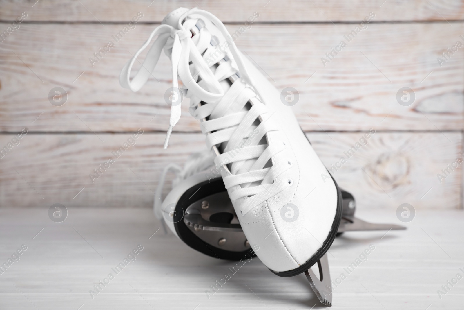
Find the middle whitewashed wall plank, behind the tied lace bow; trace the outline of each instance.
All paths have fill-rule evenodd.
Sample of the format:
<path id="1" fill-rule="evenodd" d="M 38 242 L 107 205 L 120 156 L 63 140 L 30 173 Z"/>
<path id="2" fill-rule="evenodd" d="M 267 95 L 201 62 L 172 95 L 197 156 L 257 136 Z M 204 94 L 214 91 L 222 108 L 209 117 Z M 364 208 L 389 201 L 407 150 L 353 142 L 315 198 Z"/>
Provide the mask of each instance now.
<path id="1" fill-rule="evenodd" d="M 0 43 L 0 130 L 166 131 L 167 57 L 141 91 L 118 82 L 122 66 L 155 26 L 137 25 L 92 66 L 89 58 L 122 25 L 22 24 Z M 254 24 L 236 43 L 278 90 L 296 88 L 300 99 L 293 109 L 305 131 L 463 128 L 463 48 L 442 66 L 437 58 L 464 42 L 464 23 L 369 24 L 323 66 L 321 58 L 355 26 Z M 230 32 L 238 28 L 228 26 Z M 56 86 L 68 93 L 64 106 L 48 100 Z M 396 99 L 405 86 L 415 92 L 411 106 Z M 187 102 L 182 111 L 174 131 L 198 132 Z"/>

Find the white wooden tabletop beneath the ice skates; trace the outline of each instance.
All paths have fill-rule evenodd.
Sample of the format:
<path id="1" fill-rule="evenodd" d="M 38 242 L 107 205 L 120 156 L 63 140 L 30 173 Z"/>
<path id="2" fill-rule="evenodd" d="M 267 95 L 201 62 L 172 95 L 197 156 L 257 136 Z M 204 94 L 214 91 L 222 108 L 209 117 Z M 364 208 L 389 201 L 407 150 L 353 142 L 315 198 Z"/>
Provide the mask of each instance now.
<path id="1" fill-rule="evenodd" d="M 209 299 L 205 290 L 233 262 L 207 257 L 164 235 L 149 209 L 70 208 L 62 223 L 47 209 L 0 209 L 0 263 L 27 250 L 0 275 L 0 309 L 313 309 L 323 308 L 304 275 L 282 278 L 253 258 Z M 401 224 L 395 210 L 357 216 Z M 333 309 L 463 309 L 464 279 L 442 298 L 437 290 L 464 276 L 463 211 L 417 211 L 406 231 L 351 232 L 329 250 Z M 40 232 L 39 232 L 40 231 Z M 153 233 L 157 231 L 154 235 Z M 151 237 L 150 237 L 151 236 Z M 382 237 L 383 236 L 383 237 Z M 112 268 L 142 244 L 135 261 Z M 367 260 L 344 270 L 370 244 Z M 372 246 L 371 246 L 372 247 Z M 92 299 L 89 290 L 115 277 Z M 337 282 L 340 283 L 340 280 Z M 429 307 L 429 308 L 427 308 Z"/>

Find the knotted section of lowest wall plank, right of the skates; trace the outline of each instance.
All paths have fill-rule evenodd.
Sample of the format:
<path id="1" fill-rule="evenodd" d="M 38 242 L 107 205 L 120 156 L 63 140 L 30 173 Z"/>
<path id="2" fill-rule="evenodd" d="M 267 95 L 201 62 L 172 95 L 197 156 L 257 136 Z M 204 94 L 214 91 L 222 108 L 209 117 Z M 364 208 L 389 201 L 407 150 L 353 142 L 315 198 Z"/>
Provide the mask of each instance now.
<path id="1" fill-rule="evenodd" d="M 338 184 L 363 205 L 462 207 L 462 164 L 442 172 L 464 158 L 461 133 L 375 132 L 367 139 L 364 132 L 307 135 Z"/>

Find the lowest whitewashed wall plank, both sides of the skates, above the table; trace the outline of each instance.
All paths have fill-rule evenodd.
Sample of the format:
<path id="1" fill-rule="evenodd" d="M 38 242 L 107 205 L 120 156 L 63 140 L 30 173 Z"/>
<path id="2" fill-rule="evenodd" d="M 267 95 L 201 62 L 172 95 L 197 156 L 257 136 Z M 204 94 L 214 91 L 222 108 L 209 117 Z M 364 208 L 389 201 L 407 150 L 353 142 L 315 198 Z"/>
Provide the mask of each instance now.
<path id="1" fill-rule="evenodd" d="M 461 166 L 441 183 L 437 174 L 458 156 L 462 158 L 461 133 L 375 132 L 366 145 L 348 157 L 344 152 L 356 147 L 363 134 L 308 134 L 329 169 L 332 164 L 340 166 L 337 162 L 345 157 L 346 163 L 331 171 L 360 206 L 379 209 L 409 203 L 416 209 L 460 207 Z M 11 138 L 2 135 L 0 145 Z M 202 134 L 175 133 L 165 151 L 164 134 L 145 132 L 116 159 L 112 152 L 129 138 L 129 133 L 26 134 L 0 159 L 0 206 L 62 203 L 71 207 L 149 208 L 162 169 L 168 163 L 183 165 L 192 152 L 205 148 Z M 90 174 L 110 157 L 115 163 L 92 183 Z M 164 194 L 170 187 L 168 182 Z"/>

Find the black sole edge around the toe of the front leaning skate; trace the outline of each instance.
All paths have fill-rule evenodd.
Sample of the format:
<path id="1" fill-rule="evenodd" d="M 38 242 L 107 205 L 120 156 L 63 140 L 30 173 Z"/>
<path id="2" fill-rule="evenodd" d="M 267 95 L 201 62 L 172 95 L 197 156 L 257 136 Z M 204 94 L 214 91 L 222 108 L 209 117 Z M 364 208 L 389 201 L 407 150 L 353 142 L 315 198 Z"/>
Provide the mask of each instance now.
<path id="1" fill-rule="evenodd" d="M 332 176 L 331 176 L 332 177 Z M 335 182 L 335 179 L 332 177 L 332 180 L 334 180 L 335 187 L 337 189 L 337 211 L 335 213 L 335 218 L 334 222 L 332 223 L 332 227 L 330 228 L 329 236 L 325 239 L 324 243 L 322 244 L 322 247 L 317 250 L 316 254 L 314 254 L 311 258 L 309 258 L 308 261 L 306 261 L 303 265 L 296 269 L 292 269 L 289 271 L 274 271 L 272 269 L 269 269 L 274 273 L 275 275 L 279 277 L 293 277 L 296 275 L 299 275 L 300 273 L 303 273 L 304 271 L 308 270 L 311 268 L 312 265 L 316 264 L 319 259 L 324 256 L 327 251 L 329 251 L 330 246 L 335 240 L 335 237 L 337 235 L 338 231 L 338 226 L 340 226 L 340 222 L 342 220 L 342 191 L 340 190 L 340 187 L 338 187 L 337 182 Z"/>

